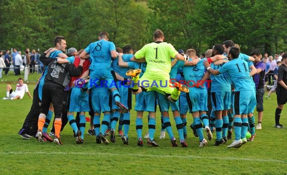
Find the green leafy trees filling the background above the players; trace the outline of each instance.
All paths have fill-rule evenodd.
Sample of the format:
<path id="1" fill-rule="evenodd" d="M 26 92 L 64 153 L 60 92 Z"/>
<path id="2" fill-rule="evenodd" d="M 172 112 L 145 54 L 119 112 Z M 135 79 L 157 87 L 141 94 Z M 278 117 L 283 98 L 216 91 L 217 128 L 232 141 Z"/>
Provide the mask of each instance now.
<path id="1" fill-rule="evenodd" d="M 241 51 L 287 51 L 285 0 L 2 0 L 0 49 L 53 47 L 56 35 L 67 47 L 85 48 L 105 30 L 117 47 L 134 49 L 152 41 L 155 29 L 176 49 L 198 54 L 233 40 Z"/>

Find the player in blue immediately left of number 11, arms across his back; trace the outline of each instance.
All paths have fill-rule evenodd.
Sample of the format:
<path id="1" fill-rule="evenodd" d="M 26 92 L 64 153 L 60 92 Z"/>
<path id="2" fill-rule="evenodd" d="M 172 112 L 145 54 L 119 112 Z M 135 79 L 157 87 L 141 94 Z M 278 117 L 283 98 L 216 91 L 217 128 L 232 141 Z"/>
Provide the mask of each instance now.
<path id="1" fill-rule="evenodd" d="M 212 55 L 222 55 L 224 53 L 224 47 L 221 44 L 216 44 L 212 48 Z M 214 70 L 219 69 L 224 64 L 215 65 L 211 63 L 210 67 Z M 211 103 L 212 111 L 215 114 L 215 127 L 217 139 L 214 143 L 215 146 L 224 144 L 227 142 L 227 130 L 228 130 L 228 116 L 227 111 L 230 109 L 230 96 L 231 85 L 229 75 L 223 73 L 220 75 L 210 75 L 206 72 L 202 80 L 204 81 L 210 76 L 211 79 Z"/>

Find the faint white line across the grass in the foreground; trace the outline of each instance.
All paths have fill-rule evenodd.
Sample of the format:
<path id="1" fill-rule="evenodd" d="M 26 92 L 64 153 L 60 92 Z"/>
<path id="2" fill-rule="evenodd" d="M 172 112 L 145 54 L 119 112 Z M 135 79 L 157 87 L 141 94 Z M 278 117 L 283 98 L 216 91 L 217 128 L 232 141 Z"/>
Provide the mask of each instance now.
<path id="1" fill-rule="evenodd" d="M 119 153 L 101 153 L 101 152 L 0 152 L 0 155 L 8 155 L 8 154 L 73 154 L 73 155 L 120 155 Z M 210 157 L 202 157 L 202 156 L 194 156 L 194 155 L 152 155 L 152 154 L 125 154 L 127 156 L 141 156 L 141 157 L 163 157 L 163 158 L 197 158 L 197 159 L 210 159 Z M 259 162 L 279 162 L 279 163 L 287 163 L 287 161 L 276 160 L 276 159 L 258 159 L 258 158 L 242 158 L 242 157 L 212 157 L 213 159 L 219 160 L 242 160 L 242 161 L 259 161 Z"/>

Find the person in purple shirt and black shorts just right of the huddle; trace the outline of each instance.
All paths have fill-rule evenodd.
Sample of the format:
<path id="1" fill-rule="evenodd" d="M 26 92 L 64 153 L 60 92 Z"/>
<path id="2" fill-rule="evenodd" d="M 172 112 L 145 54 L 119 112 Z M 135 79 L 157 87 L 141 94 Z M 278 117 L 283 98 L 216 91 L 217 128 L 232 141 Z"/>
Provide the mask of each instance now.
<path id="1" fill-rule="evenodd" d="M 262 129 L 261 122 L 263 117 L 264 78 L 266 64 L 261 61 L 259 50 L 253 50 L 250 55 L 255 59 L 254 66 L 257 69 L 257 73 L 253 75 L 253 81 L 256 89 L 256 110 L 258 112 L 258 124 L 256 129 Z"/>

